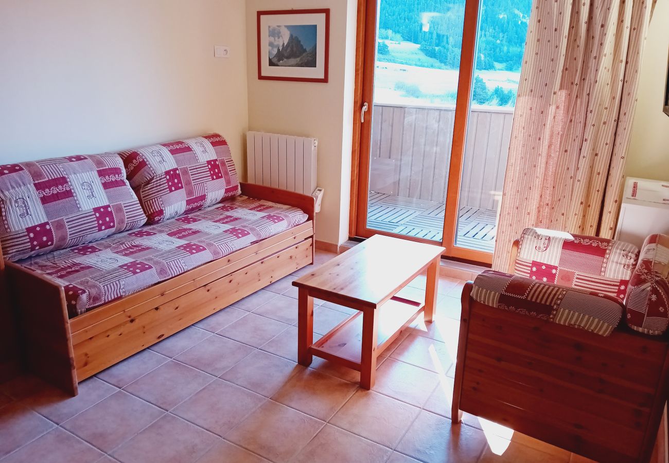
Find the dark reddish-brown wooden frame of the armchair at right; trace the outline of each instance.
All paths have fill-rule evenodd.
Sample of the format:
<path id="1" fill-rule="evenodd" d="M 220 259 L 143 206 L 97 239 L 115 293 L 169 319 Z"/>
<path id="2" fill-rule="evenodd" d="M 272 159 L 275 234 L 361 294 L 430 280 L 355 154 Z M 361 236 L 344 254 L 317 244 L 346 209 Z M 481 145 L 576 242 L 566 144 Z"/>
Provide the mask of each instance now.
<path id="1" fill-rule="evenodd" d="M 487 306 L 472 286 L 462 291 L 452 420 L 466 411 L 593 460 L 648 462 L 669 392 L 666 337 L 624 326 L 595 335 Z"/>

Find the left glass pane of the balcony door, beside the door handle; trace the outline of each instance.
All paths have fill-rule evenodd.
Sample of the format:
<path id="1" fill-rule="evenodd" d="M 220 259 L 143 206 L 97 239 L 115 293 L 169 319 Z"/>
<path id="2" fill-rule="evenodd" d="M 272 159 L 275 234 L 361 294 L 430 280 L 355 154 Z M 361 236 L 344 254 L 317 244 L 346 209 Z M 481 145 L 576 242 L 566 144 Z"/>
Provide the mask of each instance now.
<path id="1" fill-rule="evenodd" d="M 368 228 L 442 241 L 464 4 L 379 0 Z"/>

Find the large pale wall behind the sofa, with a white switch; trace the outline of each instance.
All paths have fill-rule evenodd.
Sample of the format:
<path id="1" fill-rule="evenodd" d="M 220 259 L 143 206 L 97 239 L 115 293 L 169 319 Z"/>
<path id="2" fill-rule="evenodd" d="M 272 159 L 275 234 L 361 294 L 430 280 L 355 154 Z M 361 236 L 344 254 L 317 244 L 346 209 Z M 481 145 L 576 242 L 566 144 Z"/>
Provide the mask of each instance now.
<path id="1" fill-rule="evenodd" d="M 244 0 L 0 0 L 0 163 L 219 131 L 239 165 L 245 14 Z"/>

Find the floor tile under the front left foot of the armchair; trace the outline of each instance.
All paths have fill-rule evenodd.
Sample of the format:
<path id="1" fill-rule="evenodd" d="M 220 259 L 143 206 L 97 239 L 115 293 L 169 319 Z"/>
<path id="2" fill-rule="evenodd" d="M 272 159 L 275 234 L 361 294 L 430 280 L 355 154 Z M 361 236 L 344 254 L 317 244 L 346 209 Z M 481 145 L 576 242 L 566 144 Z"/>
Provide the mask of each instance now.
<path id="1" fill-rule="evenodd" d="M 476 462 L 486 446 L 481 430 L 421 411 L 395 450 L 421 462 Z"/>

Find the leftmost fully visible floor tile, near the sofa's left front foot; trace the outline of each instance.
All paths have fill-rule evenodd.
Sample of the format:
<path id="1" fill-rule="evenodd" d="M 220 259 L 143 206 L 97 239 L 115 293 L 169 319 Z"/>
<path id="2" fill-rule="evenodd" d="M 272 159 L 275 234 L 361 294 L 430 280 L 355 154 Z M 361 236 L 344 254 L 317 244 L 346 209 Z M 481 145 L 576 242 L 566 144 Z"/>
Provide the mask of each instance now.
<path id="1" fill-rule="evenodd" d="M 134 395 L 118 391 L 70 418 L 62 427 L 104 452 L 111 452 L 164 413 Z"/>

